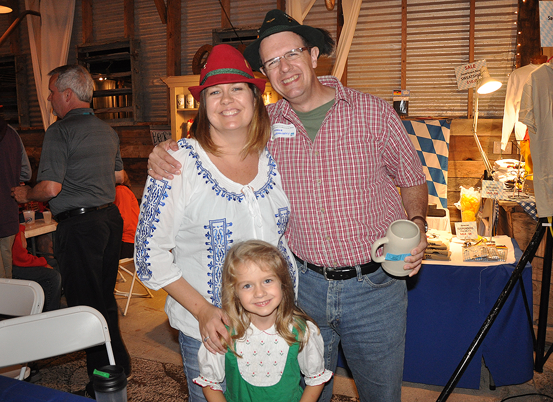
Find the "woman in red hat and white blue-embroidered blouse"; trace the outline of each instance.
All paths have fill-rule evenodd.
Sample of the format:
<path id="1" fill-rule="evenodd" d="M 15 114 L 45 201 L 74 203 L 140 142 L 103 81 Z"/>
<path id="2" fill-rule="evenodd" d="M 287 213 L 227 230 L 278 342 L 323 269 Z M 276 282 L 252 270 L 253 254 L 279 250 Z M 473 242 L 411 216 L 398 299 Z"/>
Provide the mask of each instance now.
<path id="1" fill-rule="evenodd" d="M 182 174 L 148 179 L 135 237 L 135 266 L 142 282 L 163 288 L 165 311 L 179 330 L 189 401 L 202 401 L 197 353 L 201 344 L 224 353 L 229 341 L 221 310 L 221 272 L 227 250 L 260 239 L 278 247 L 294 286 L 298 274 L 283 234 L 290 203 L 265 144 L 270 137 L 263 103 L 264 79 L 230 45 L 213 47 L 190 87 L 198 115 L 171 155 Z"/>

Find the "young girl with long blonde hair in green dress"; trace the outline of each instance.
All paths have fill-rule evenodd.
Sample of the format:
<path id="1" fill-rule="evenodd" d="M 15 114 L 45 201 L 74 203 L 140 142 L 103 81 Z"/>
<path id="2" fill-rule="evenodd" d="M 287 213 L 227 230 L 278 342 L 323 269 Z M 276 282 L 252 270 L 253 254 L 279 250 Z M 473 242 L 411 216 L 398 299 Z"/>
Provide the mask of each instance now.
<path id="1" fill-rule="evenodd" d="M 198 351 L 208 402 L 316 401 L 332 377 L 319 328 L 294 304 L 288 264 L 269 243 L 249 240 L 228 250 L 222 308 L 229 319 L 227 353 Z M 300 387 L 300 370 L 305 390 Z M 226 379 L 223 394 L 221 383 Z"/>

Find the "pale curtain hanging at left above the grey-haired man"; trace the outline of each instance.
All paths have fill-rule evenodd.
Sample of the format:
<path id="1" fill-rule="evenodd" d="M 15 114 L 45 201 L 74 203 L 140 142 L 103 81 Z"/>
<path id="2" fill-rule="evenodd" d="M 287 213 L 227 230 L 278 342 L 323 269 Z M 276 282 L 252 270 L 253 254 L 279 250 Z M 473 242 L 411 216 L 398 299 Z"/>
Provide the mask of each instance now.
<path id="1" fill-rule="evenodd" d="M 27 27 L 36 94 L 44 129 L 47 129 L 55 121 L 52 107 L 47 101 L 48 73 L 67 64 L 75 0 L 25 0 L 25 8 L 40 12 L 40 17 L 28 15 Z"/>

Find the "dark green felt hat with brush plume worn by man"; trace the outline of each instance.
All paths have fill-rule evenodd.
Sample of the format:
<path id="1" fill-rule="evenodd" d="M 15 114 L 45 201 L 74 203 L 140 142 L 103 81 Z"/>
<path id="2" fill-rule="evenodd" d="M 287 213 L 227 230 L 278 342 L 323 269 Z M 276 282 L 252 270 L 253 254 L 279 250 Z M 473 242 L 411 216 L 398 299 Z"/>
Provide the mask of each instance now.
<path id="1" fill-rule="evenodd" d="M 331 55 L 334 50 L 335 41 L 326 29 L 301 25 L 285 12 L 274 9 L 265 15 L 263 24 L 261 28 L 259 28 L 259 38 L 254 40 L 252 44 L 244 50 L 244 57 L 249 61 L 255 71 L 261 71 L 261 60 L 259 59 L 259 45 L 261 41 L 267 38 L 267 36 L 279 32 L 294 32 L 300 35 L 307 46 L 311 48 L 316 46 L 319 48 L 319 56 Z"/>

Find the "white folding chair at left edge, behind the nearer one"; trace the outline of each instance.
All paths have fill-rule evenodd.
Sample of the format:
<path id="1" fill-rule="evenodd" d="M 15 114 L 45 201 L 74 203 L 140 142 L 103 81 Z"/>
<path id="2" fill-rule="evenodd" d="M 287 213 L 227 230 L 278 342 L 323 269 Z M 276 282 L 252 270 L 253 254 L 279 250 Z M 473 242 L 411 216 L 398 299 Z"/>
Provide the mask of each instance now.
<path id="1" fill-rule="evenodd" d="M 0 278 L 0 314 L 6 316 L 26 316 L 42 312 L 44 291 L 32 281 L 23 279 Z M 30 373 L 27 364 L 0 370 L 0 375 L 24 379 Z"/>

